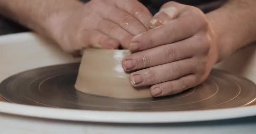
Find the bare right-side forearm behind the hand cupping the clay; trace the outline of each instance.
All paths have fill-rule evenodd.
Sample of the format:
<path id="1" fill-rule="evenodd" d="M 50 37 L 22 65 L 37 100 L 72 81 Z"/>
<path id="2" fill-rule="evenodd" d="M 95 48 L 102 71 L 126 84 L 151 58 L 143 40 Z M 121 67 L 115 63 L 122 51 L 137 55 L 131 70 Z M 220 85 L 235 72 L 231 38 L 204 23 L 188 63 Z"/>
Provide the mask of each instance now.
<path id="1" fill-rule="evenodd" d="M 219 61 L 256 40 L 256 1 L 229 0 L 207 14 L 215 31 Z"/>

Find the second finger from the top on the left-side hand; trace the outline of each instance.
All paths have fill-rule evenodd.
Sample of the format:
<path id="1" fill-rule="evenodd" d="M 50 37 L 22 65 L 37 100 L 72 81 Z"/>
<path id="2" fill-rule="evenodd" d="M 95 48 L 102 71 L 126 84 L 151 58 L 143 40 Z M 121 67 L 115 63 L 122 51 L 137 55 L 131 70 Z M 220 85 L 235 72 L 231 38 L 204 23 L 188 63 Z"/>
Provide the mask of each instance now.
<path id="1" fill-rule="evenodd" d="M 147 28 L 143 26 L 139 20 L 120 8 L 109 5 L 107 11 L 106 9 L 102 9 L 100 13 L 103 18 L 117 23 L 121 28 L 133 35 L 147 31 Z"/>

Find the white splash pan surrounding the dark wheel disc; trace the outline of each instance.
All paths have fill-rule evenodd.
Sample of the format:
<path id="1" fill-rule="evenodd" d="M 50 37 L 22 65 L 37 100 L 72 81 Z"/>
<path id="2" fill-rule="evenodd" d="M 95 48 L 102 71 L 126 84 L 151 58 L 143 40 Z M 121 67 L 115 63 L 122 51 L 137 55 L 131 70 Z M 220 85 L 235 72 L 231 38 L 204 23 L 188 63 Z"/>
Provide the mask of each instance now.
<path id="1" fill-rule="evenodd" d="M 80 61 L 80 59 L 74 59 L 69 54 L 64 53 L 57 45 L 55 45 L 51 41 L 48 41 L 34 33 L 19 33 L 0 36 L 0 81 L 21 71 L 30 70 L 37 67 L 45 67 L 49 65 L 72 63 L 78 61 Z M 216 67 L 247 77 L 253 82 L 256 82 L 256 45 L 250 45 L 243 50 L 240 50 L 239 52 L 233 54 L 226 61 L 218 64 L 218 66 Z M 123 133 L 127 132 L 128 134 L 132 132 L 132 130 L 137 129 L 140 130 L 142 133 L 147 132 L 147 134 L 153 134 L 153 132 L 155 133 L 155 131 L 153 131 L 152 129 L 158 125 L 149 125 L 145 127 L 139 127 L 137 125 L 128 125 L 125 127 L 114 125 L 114 127 L 111 126 L 111 124 L 176 124 L 199 121 L 222 121 L 226 119 L 240 119 L 245 117 L 251 117 L 256 121 L 256 117 L 254 116 L 256 116 L 256 106 L 182 112 L 113 112 L 71 110 L 64 108 L 45 108 L 0 102 L 0 128 L 6 130 L 7 134 L 8 132 L 15 132 L 14 129 L 8 129 L 13 127 L 13 125 L 9 125 L 8 127 L 8 122 L 10 124 L 15 124 L 19 122 L 21 123 L 19 125 L 22 126 L 25 125 L 22 124 L 22 122 L 24 123 L 25 121 L 25 123 L 28 123 L 29 125 L 26 126 L 26 128 L 29 129 L 29 131 L 33 131 L 33 133 L 35 134 L 39 134 L 39 132 L 36 131 L 37 128 L 49 128 L 46 126 L 35 126 L 35 123 L 45 124 L 47 122 L 51 122 L 50 124 L 54 125 L 65 124 L 61 126 L 63 130 L 67 130 L 67 128 L 69 128 L 68 126 L 70 126 L 69 130 L 73 130 L 71 128 L 75 128 L 74 124 L 79 124 L 83 128 L 86 126 L 86 131 L 91 133 L 94 133 L 96 128 L 99 131 L 104 128 L 104 132 L 111 132 L 112 134 L 120 133 L 120 131 L 117 130 L 123 130 Z M 75 123 L 73 121 L 75 121 Z M 35 123 L 29 124 L 32 122 Z M 247 121 L 245 120 L 245 122 Z M 106 124 L 101 125 L 102 123 L 107 123 L 107 126 L 110 126 L 105 127 Z M 19 125 L 17 124 L 17 126 L 14 126 L 17 128 Z M 76 127 L 78 127 L 79 125 L 77 125 Z M 248 128 L 250 128 L 251 130 L 253 130 L 252 128 L 255 129 L 255 125 L 256 122 L 253 122 L 248 127 L 245 127 L 245 125 L 242 124 L 241 126 L 243 127 L 237 127 L 236 129 L 237 131 L 238 129 L 243 130 L 243 128 L 246 128 L 247 130 Z M 200 126 L 202 126 L 202 124 L 197 127 L 193 126 L 194 129 L 197 128 L 197 130 L 194 131 L 205 131 L 205 129 L 199 129 Z M 158 127 L 154 130 L 157 130 L 157 132 L 159 133 L 161 131 L 164 133 L 164 130 L 172 130 L 173 132 L 180 132 L 180 134 L 183 134 L 181 132 L 181 129 L 177 129 L 177 126 L 175 127 L 163 125 L 161 127 L 161 130 L 157 129 Z M 173 127 L 176 129 L 173 130 Z M 182 125 L 180 125 L 179 127 L 182 127 Z M 190 131 L 192 127 L 187 124 L 187 126 L 184 126 L 184 128 L 182 129 L 182 131 Z M 235 130 L 232 129 L 232 126 L 226 126 L 226 129 L 220 129 L 218 127 L 218 131 L 227 130 L 230 132 L 230 130 L 228 130 L 227 128 L 229 128 L 230 130 Z M 24 131 L 24 129 L 21 128 L 18 128 L 17 130 Z M 83 131 L 81 132 L 86 131 L 83 129 Z M 59 127 L 56 126 L 54 131 L 52 132 L 60 132 Z M 66 134 L 67 132 L 68 130 L 61 132 L 61 134 Z M 208 134 L 213 134 L 213 132 L 215 131 L 208 131 Z M 192 133 L 193 131 L 191 130 L 191 134 Z M 77 134 L 80 134 L 79 131 L 77 131 Z"/>

